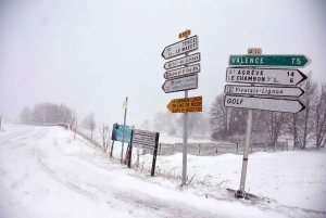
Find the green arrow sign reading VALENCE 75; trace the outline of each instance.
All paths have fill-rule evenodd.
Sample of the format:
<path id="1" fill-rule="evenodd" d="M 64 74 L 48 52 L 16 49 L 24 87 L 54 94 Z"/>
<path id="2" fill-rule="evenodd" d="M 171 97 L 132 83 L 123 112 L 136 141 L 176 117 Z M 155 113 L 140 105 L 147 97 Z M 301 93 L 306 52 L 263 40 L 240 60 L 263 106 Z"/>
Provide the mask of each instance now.
<path id="1" fill-rule="evenodd" d="M 305 67 L 311 60 L 304 54 L 230 55 L 230 66 Z"/>

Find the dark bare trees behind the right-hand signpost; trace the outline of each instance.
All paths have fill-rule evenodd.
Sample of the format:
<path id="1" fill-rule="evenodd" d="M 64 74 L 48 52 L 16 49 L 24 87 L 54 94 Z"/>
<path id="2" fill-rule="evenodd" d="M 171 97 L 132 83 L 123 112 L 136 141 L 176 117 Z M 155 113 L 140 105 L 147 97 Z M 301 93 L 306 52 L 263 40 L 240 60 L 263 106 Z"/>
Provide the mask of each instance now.
<path id="1" fill-rule="evenodd" d="M 253 110 L 252 136 L 256 142 L 274 144 L 281 136 L 291 137 L 293 146 L 323 148 L 326 144 L 326 82 L 312 80 L 312 73 L 300 84 L 305 93 L 299 100 L 305 110 L 297 114 Z M 246 134 L 248 110 L 224 106 L 224 93 L 218 94 L 210 110 L 212 139 L 242 142 Z M 237 139 L 241 136 L 242 139 Z"/>

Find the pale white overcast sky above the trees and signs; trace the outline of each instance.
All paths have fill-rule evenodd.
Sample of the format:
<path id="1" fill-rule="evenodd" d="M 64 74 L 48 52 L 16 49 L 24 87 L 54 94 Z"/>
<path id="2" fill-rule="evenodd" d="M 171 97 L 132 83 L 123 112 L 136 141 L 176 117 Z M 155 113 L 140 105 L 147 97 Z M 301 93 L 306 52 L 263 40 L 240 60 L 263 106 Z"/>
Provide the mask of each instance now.
<path id="1" fill-rule="evenodd" d="M 0 114 L 16 120 L 36 103 L 64 103 L 83 119 L 153 119 L 184 92 L 164 93 L 161 53 L 191 29 L 199 37 L 199 88 L 210 108 L 224 91 L 230 54 L 305 54 L 301 69 L 326 81 L 326 1 L 0 1 Z"/>

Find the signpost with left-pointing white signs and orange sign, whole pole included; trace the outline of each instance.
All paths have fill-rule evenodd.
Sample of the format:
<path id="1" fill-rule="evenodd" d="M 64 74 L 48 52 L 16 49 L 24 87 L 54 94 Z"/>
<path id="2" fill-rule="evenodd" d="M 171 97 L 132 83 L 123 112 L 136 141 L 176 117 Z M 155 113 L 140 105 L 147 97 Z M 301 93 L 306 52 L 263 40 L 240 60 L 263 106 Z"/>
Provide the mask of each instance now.
<path id="1" fill-rule="evenodd" d="M 186 30 L 179 34 L 179 38 L 186 37 L 185 40 L 178 41 L 176 43 L 170 44 L 165 47 L 162 52 L 162 56 L 166 59 L 172 59 L 174 56 L 178 56 L 185 54 L 184 57 L 173 60 L 166 62 L 164 64 L 165 69 L 171 69 L 179 66 L 184 66 L 183 68 L 174 69 L 166 72 L 164 74 L 166 80 L 162 89 L 165 93 L 176 92 L 176 91 L 185 91 L 184 100 L 187 101 L 188 99 L 188 90 L 197 89 L 198 88 L 198 75 L 200 73 L 200 65 L 195 64 L 188 66 L 190 63 L 199 62 L 200 61 L 200 53 L 195 53 L 192 55 L 188 55 L 189 52 L 195 51 L 198 49 L 198 37 L 192 36 L 188 38 L 190 35 L 190 30 Z M 195 74 L 195 75 L 192 75 Z M 187 76 L 187 77 L 185 77 Z M 181 77 L 181 78 L 179 78 Z M 174 78 L 174 79 L 173 79 Z M 175 101 L 175 100 L 173 100 Z M 181 101 L 181 100 L 180 100 Z M 187 105 L 186 105 L 187 104 Z M 187 140 L 188 140 L 188 112 L 201 112 L 201 97 L 200 100 L 193 101 L 192 106 L 189 106 L 188 103 L 172 103 L 167 105 L 167 108 L 172 113 L 184 113 L 184 145 L 183 145 L 183 185 L 187 185 Z"/>

